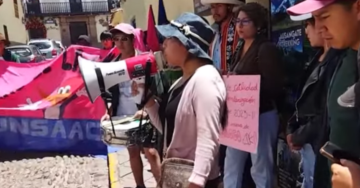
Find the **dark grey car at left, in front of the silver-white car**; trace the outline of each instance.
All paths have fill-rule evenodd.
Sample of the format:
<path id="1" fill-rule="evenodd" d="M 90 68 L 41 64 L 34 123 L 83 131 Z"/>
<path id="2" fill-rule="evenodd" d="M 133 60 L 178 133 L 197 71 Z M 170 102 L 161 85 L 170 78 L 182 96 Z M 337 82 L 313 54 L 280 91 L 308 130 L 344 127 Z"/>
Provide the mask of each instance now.
<path id="1" fill-rule="evenodd" d="M 16 54 L 21 63 L 37 63 L 45 60 L 40 50 L 34 45 L 18 45 L 6 47 L 5 50 L 9 50 Z"/>

